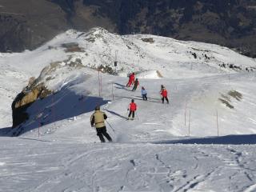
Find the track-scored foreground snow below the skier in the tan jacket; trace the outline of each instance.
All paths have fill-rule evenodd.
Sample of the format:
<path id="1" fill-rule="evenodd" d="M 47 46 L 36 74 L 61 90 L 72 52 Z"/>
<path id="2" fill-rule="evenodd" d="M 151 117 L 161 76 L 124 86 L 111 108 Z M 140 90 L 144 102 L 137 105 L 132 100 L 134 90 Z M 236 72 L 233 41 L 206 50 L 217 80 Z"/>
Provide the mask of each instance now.
<path id="1" fill-rule="evenodd" d="M 17 144 L 15 142 L 17 141 L 14 141 L 13 145 Z M 35 176 L 38 173 L 38 186 L 33 186 L 35 181 L 32 179 L 31 186 L 28 187 L 26 184 L 26 188 L 20 191 L 206 191 L 211 187 L 216 191 L 222 191 L 218 188 L 218 182 L 230 182 L 230 191 L 240 191 L 244 189 L 243 187 L 249 186 L 249 183 L 252 185 L 255 179 L 256 170 L 254 170 L 254 164 L 249 163 L 250 156 L 243 158 L 239 152 L 244 146 L 228 148 L 195 146 L 191 151 L 190 146 L 182 145 L 158 147 L 152 144 L 106 143 L 84 146 L 74 142 L 71 146 L 75 149 L 72 149 L 72 147 L 66 148 L 70 145 L 60 146 L 55 142 L 46 144 L 34 142 L 38 146 L 38 152 L 40 148 L 45 149 L 47 146 L 55 150 L 59 148 L 59 151 L 40 154 L 35 149 L 29 148 L 27 151 L 31 151 L 32 156 L 26 155 L 22 158 L 18 155 L 22 158 L 19 159 L 21 163 L 18 160 L 15 161 L 16 168 L 12 170 L 13 174 L 1 176 L 0 179 L 5 178 L 8 182 L 16 175 L 15 178 L 18 179 L 16 184 L 18 184 L 19 181 L 30 178 L 30 174 Z M 137 150 L 134 150 L 134 145 Z M 254 147 L 251 148 L 254 149 Z M 21 150 L 20 154 L 26 152 L 24 148 L 18 150 Z M 38 155 L 48 155 L 48 157 L 51 156 L 50 159 L 58 158 L 55 159 L 54 165 L 51 161 L 46 161 L 44 162 L 46 164 L 40 167 L 36 163 Z M 14 155 L 13 158 L 15 157 L 17 156 Z M 34 157 L 35 162 L 26 163 L 31 157 Z M 11 165 L 13 159 L 11 157 L 8 159 L 6 159 L 6 165 Z M 250 166 L 244 166 L 246 162 Z M 27 165 L 30 170 L 20 172 L 23 169 L 22 165 Z M 37 167 L 36 171 L 33 166 Z M 50 169 L 50 166 L 55 168 Z M 46 170 L 44 170 L 45 167 L 47 167 Z M 241 183 L 234 186 L 232 183 L 237 183 L 238 180 Z M 242 182 L 247 184 L 239 185 Z M 253 191 L 252 189 L 254 189 L 253 186 L 250 186 L 247 191 Z M 2 188 L 2 190 L 12 191 L 8 188 Z"/>

